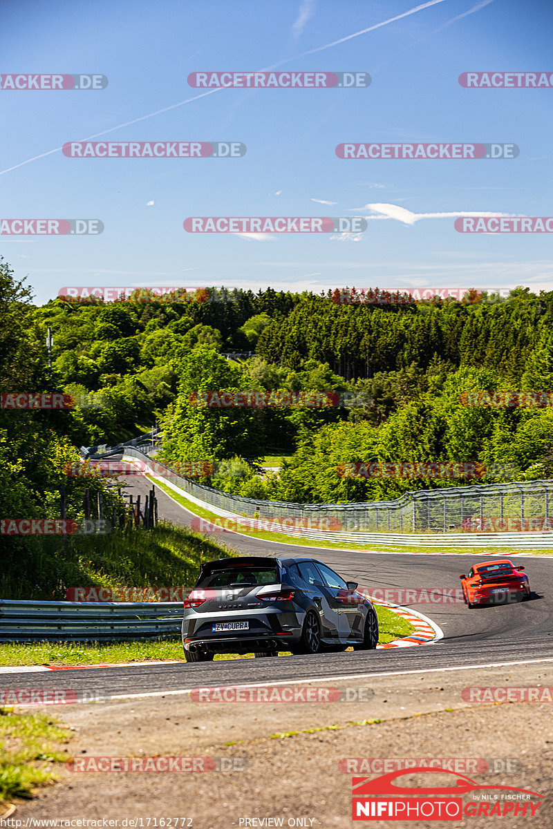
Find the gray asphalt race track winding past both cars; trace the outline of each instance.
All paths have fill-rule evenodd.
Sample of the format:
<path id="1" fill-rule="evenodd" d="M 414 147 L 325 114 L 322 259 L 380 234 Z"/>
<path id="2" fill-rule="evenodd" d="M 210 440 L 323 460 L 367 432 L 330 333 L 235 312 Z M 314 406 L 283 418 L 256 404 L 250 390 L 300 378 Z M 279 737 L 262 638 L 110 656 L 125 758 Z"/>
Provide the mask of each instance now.
<path id="1" fill-rule="evenodd" d="M 128 478 L 127 492 L 143 497 L 152 484 Z M 188 525 L 189 513 L 159 487 L 158 514 L 174 524 Z M 313 549 L 275 544 L 217 532 L 214 538 L 250 555 L 308 555 L 330 565 L 363 588 L 456 589 L 458 575 L 478 561 L 473 555 L 409 555 Z M 487 557 L 494 557 L 490 555 Z M 485 666 L 501 662 L 553 657 L 553 557 L 517 555 L 529 576 L 531 599 L 518 604 L 468 610 L 464 604 L 408 605 L 433 619 L 444 639 L 433 645 L 390 648 L 371 652 L 322 653 L 312 657 L 236 659 L 149 667 L 104 667 L 75 671 L 14 673 L 20 688 L 72 688 L 103 691 L 109 696 L 177 691 L 194 686 L 219 686 L 270 681 L 298 681 L 376 673 L 428 671 L 444 667 Z M 162 586 L 162 585 L 159 585 Z M 165 586 L 165 585 L 163 585 Z M 169 585 L 167 585 L 169 586 Z"/>

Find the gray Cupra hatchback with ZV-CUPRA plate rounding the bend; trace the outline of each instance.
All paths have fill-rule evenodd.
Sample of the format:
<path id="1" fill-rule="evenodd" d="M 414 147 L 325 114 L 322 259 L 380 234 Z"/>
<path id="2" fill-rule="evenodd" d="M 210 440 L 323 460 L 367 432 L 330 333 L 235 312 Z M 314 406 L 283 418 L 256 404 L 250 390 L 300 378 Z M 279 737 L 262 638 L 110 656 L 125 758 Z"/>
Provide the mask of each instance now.
<path id="1" fill-rule="evenodd" d="M 184 656 L 208 662 L 216 653 L 375 648 L 375 608 L 356 588 L 315 559 L 247 555 L 207 562 L 184 602 Z"/>

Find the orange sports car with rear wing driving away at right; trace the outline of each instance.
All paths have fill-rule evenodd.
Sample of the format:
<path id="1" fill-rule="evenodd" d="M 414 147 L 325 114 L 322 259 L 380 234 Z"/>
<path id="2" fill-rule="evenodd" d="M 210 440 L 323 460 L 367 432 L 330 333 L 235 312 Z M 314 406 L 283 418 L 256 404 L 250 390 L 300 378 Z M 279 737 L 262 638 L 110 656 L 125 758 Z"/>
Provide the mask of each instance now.
<path id="1" fill-rule="evenodd" d="M 522 601 L 530 596 L 528 576 L 524 567 L 513 565 L 508 559 L 484 561 L 474 565 L 468 574 L 459 576 L 463 599 L 469 608 L 476 604 L 503 604 L 512 599 Z"/>

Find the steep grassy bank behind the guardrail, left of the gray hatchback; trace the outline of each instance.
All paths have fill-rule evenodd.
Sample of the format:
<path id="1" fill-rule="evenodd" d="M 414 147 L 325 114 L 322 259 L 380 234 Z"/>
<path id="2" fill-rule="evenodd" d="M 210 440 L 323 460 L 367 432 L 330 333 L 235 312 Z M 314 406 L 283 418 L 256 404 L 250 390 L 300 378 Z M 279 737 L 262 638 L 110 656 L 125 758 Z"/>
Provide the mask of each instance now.
<path id="1" fill-rule="evenodd" d="M 7 539 L 9 541 L 9 539 Z M 65 599 L 70 587 L 194 584 L 202 561 L 233 553 L 187 527 L 159 524 L 105 536 L 44 536 L 36 555 L 2 552 L 0 599 Z M 3 542 L 2 542 L 3 543 Z"/>

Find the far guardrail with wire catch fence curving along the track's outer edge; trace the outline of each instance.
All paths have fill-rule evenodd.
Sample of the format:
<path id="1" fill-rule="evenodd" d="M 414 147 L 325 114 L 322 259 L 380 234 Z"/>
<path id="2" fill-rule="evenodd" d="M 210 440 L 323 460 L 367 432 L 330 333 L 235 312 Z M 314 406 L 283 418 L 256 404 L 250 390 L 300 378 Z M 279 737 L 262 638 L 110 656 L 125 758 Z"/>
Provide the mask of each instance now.
<path id="1" fill-rule="evenodd" d="M 125 448 L 124 457 L 145 461 L 144 454 L 132 447 Z M 553 526 L 553 481 L 444 487 L 407 492 L 395 501 L 296 504 L 230 495 L 185 478 L 158 461 L 155 466 L 158 470 L 163 468 L 163 475 L 160 476 L 153 470 L 153 478 L 167 483 L 215 515 L 240 521 L 279 521 L 279 518 L 292 518 L 295 526 L 287 528 L 286 535 L 356 544 L 440 546 L 447 543 L 459 547 L 478 544 L 518 548 L 553 546 L 551 530 L 462 531 L 463 522 L 468 518 L 484 521 L 490 516 L 497 517 L 498 520 L 527 520 L 536 516 L 545 518 Z M 337 530 L 321 531 L 301 526 L 302 521 L 313 525 L 324 520 L 329 521 L 329 526 L 334 521 Z M 273 528 L 273 531 L 276 530 Z"/>

